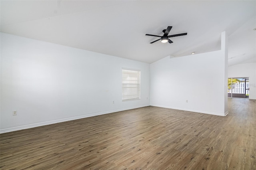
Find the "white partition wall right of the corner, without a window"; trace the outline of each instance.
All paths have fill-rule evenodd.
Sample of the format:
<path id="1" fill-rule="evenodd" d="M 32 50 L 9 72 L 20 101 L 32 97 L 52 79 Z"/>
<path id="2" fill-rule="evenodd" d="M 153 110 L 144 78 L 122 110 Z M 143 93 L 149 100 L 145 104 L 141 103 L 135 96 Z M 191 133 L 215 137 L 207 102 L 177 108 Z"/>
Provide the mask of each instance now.
<path id="1" fill-rule="evenodd" d="M 224 70 L 221 50 L 156 61 L 150 65 L 150 105 L 225 116 Z"/>

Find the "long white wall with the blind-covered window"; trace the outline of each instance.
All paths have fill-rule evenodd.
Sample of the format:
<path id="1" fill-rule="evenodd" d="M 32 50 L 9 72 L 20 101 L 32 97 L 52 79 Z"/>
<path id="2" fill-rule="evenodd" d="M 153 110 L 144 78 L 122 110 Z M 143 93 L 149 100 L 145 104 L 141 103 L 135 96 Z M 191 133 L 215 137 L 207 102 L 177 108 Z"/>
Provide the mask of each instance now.
<path id="1" fill-rule="evenodd" d="M 0 35 L 1 132 L 150 105 L 147 63 Z M 122 67 L 141 70 L 140 100 L 122 102 Z"/>

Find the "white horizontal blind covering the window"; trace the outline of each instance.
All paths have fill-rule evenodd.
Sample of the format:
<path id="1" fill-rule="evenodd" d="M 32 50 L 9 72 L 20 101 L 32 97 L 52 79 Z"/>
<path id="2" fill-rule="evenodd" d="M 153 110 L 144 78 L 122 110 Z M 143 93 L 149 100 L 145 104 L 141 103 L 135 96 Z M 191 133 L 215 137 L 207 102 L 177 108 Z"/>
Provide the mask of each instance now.
<path id="1" fill-rule="evenodd" d="M 122 69 L 122 101 L 140 99 L 140 71 Z"/>

